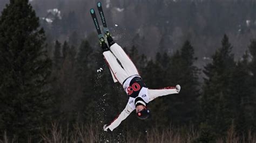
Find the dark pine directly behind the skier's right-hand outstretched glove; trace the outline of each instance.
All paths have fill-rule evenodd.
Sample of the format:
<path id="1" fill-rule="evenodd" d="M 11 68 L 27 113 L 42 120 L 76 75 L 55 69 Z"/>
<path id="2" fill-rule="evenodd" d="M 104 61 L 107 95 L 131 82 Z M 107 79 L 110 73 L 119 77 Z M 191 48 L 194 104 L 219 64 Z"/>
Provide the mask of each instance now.
<path id="1" fill-rule="evenodd" d="M 171 56 L 166 70 L 166 82 L 171 85 L 180 84 L 181 91 L 178 96 L 171 96 L 169 109 L 170 118 L 174 123 L 181 125 L 195 124 L 198 111 L 199 97 L 199 69 L 194 66 L 197 58 L 189 41 L 185 41 L 180 51 Z M 175 118 L 174 118 L 175 117 Z"/>

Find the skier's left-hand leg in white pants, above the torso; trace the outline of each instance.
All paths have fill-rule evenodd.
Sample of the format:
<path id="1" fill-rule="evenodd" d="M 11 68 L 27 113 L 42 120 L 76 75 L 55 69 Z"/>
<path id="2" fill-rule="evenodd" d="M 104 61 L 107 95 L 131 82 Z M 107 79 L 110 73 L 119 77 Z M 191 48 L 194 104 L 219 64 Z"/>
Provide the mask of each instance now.
<path id="1" fill-rule="evenodd" d="M 111 51 L 105 51 L 103 55 L 114 77 L 122 84 L 129 75 L 127 75 L 126 71 L 119 65 L 116 56 L 114 56 Z"/>

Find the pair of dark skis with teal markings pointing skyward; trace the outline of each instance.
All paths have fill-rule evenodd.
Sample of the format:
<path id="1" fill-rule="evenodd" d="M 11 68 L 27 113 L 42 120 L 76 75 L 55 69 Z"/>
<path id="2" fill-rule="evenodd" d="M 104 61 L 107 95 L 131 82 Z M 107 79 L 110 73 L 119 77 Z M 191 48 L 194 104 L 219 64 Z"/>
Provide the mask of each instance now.
<path id="1" fill-rule="evenodd" d="M 99 11 L 100 19 L 102 20 L 104 33 L 105 33 L 106 36 L 110 36 L 109 28 L 107 28 L 106 19 L 105 19 L 104 12 L 103 12 L 103 9 L 102 9 L 102 3 L 98 2 L 97 3 L 97 8 L 98 8 L 98 11 Z M 100 26 L 99 26 L 99 23 L 98 23 L 98 19 L 97 19 L 95 10 L 91 9 L 90 13 L 91 13 L 93 23 L 94 23 L 94 25 L 96 27 L 96 30 L 97 30 L 97 33 L 98 33 L 99 41 L 104 42 L 105 41 L 104 36 L 102 34 L 102 31 L 100 30 Z"/>

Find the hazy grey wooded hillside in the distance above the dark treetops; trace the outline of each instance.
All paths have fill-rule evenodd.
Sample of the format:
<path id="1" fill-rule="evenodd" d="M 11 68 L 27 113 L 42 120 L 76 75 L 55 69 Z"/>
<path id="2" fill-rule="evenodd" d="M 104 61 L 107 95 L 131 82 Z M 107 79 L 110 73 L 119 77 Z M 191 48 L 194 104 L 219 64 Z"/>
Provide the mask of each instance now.
<path id="1" fill-rule="evenodd" d="M 98 1 L 98 0 L 97 0 Z M 88 37 L 94 27 L 89 15 L 96 0 L 35 0 L 31 2 L 51 40 Z M 8 0 L 0 2 L 0 8 Z M 248 1 L 102 1 L 107 24 L 123 46 L 139 46 L 149 55 L 159 51 L 173 53 L 185 40 L 195 48 L 199 65 L 220 46 L 224 33 L 230 37 L 238 58 L 256 34 L 256 3 Z M 46 22 L 49 9 L 58 9 L 61 19 Z M 150 50 L 149 50 L 150 49 Z M 207 58 L 206 58 L 207 59 Z"/>

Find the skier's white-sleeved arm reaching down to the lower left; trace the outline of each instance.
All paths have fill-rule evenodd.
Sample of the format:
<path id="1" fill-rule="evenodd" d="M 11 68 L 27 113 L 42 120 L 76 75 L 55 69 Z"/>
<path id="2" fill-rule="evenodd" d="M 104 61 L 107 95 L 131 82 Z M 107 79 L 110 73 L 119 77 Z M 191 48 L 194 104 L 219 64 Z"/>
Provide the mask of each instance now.
<path id="1" fill-rule="evenodd" d="M 133 111 L 133 109 L 131 108 L 131 106 L 129 105 L 129 103 L 127 103 L 127 105 L 125 106 L 125 109 L 120 113 L 120 115 L 118 115 L 117 118 L 115 118 L 110 125 L 105 125 L 104 131 L 107 131 L 107 129 L 109 129 L 110 131 L 113 131 L 114 128 L 118 127 L 121 122 L 126 119 L 130 113 Z"/>

